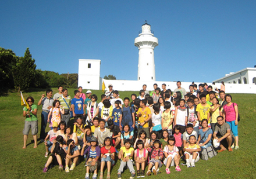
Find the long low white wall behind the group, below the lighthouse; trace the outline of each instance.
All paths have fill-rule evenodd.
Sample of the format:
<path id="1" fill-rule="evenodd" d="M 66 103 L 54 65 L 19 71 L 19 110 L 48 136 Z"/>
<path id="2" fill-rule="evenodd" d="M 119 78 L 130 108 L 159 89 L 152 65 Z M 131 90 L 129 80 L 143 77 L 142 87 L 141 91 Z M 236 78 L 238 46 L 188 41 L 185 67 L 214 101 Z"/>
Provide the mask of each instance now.
<path id="1" fill-rule="evenodd" d="M 106 90 L 108 89 L 108 84 L 111 83 L 113 85 L 114 90 L 119 91 L 139 91 L 142 89 L 142 86 L 145 84 L 147 85 L 147 90 L 151 91 L 154 90 L 154 83 L 158 84 L 158 87 L 162 90 L 162 83 L 166 84 L 166 89 L 172 90 L 172 92 L 177 88 L 176 82 L 141 82 L 141 81 L 127 81 L 127 80 L 106 80 L 104 79 Z M 197 86 L 200 82 L 195 82 Z M 212 83 L 207 83 L 211 85 Z M 102 84 L 101 84 L 102 85 Z M 191 82 L 182 82 L 182 87 L 189 92 L 189 85 Z M 221 88 L 221 83 L 215 84 L 218 89 Z M 226 93 L 254 93 L 256 94 L 256 85 L 244 85 L 244 84 L 225 84 Z"/>

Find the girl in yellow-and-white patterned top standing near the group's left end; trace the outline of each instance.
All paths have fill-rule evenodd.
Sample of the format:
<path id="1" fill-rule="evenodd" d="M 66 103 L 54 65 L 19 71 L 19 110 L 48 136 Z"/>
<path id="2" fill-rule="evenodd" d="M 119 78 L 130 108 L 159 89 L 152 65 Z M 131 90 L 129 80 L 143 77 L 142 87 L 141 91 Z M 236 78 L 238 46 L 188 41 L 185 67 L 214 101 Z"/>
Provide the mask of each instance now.
<path id="1" fill-rule="evenodd" d="M 51 129 L 53 129 L 52 127 L 53 122 L 57 122 L 59 125 L 59 123 L 61 122 L 61 114 L 64 114 L 64 110 L 61 109 L 62 105 L 59 105 L 59 104 L 61 104 L 61 102 L 59 102 L 59 100 L 55 100 L 54 103 L 52 104 L 53 108 L 49 110 L 47 122 L 50 122 L 50 118 L 52 116 L 51 123 L 49 124 L 49 127 L 51 127 Z"/>

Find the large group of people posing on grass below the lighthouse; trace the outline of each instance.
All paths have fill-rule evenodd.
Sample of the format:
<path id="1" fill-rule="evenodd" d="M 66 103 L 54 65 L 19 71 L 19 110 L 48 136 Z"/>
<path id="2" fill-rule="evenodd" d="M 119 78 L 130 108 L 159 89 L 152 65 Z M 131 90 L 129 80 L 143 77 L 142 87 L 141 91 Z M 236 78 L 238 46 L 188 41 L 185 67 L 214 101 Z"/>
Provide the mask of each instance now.
<path id="1" fill-rule="evenodd" d="M 187 167 L 195 167 L 202 151 L 209 147 L 218 152 L 239 149 L 238 108 L 231 102 L 232 96 L 225 94 L 225 88 L 200 84 L 198 90 L 197 85 L 190 85 L 190 92 L 186 93 L 180 85 L 177 82 L 173 94 L 165 84 L 162 91 L 154 84 L 151 94 L 143 85 L 138 97 L 131 94 L 131 103 L 129 97 L 122 100 L 111 84 L 99 104 L 90 90 L 87 98 L 81 90 L 76 90 L 75 100 L 69 100 L 69 105 L 67 90 L 62 90 L 62 98 L 49 104 L 48 111 L 43 105 L 41 117 L 48 112 L 47 122 L 51 127 L 43 139 L 45 157 L 51 152 L 43 171 L 58 165 L 60 170 L 70 172 L 84 159 L 86 178 L 90 178 L 90 173 L 97 178 L 98 169 L 99 178 L 103 178 L 105 166 L 106 178 L 111 178 L 111 168 L 120 160 L 119 179 L 125 166 L 130 170 L 130 178 L 140 178 L 161 173 L 162 165 L 167 174 L 171 166 L 181 171 L 180 159 Z M 26 117 L 23 148 L 30 129 L 33 136 L 37 135 L 37 107 L 33 97 L 28 97 L 27 102 L 29 108 L 23 109 Z M 66 120 L 66 114 L 73 115 L 74 120 Z"/>

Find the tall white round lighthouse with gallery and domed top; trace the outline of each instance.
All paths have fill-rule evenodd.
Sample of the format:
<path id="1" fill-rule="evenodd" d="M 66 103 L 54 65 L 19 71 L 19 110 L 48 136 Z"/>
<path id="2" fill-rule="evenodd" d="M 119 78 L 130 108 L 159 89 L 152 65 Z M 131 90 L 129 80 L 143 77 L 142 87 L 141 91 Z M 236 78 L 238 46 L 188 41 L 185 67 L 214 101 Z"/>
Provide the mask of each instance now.
<path id="1" fill-rule="evenodd" d="M 138 48 L 138 81 L 155 81 L 154 49 L 158 46 L 158 39 L 154 37 L 150 24 L 141 26 L 134 45 Z"/>

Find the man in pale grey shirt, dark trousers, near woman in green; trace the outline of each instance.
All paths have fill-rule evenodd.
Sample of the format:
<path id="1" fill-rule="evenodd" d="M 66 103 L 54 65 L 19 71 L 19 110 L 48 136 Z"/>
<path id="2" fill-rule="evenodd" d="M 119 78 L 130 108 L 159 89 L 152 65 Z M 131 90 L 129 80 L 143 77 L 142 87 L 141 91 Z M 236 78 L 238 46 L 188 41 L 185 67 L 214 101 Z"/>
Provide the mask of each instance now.
<path id="1" fill-rule="evenodd" d="M 45 127 L 47 126 L 49 109 L 52 108 L 52 104 L 54 103 L 54 98 L 52 98 L 51 89 L 46 90 L 46 96 L 47 97 L 45 97 L 45 94 L 42 94 L 41 99 L 37 103 L 38 106 L 42 104 L 41 132 L 40 132 L 41 142 L 43 142 L 45 138 Z"/>

